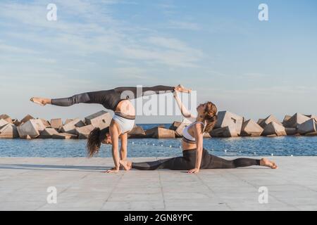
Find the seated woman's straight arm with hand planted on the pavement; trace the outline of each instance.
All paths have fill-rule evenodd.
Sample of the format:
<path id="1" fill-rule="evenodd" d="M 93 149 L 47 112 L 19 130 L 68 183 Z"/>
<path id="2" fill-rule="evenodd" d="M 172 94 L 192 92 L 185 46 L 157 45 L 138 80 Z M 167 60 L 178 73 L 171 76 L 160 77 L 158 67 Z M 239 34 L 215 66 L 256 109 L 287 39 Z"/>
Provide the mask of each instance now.
<path id="1" fill-rule="evenodd" d="M 194 125 L 194 134 L 196 139 L 196 163 L 195 168 L 189 170 L 189 174 L 196 174 L 199 172 L 201 166 L 201 159 L 203 153 L 203 140 L 204 140 L 204 132 L 203 132 L 203 125 L 201 123 L 197 123 Z"/>

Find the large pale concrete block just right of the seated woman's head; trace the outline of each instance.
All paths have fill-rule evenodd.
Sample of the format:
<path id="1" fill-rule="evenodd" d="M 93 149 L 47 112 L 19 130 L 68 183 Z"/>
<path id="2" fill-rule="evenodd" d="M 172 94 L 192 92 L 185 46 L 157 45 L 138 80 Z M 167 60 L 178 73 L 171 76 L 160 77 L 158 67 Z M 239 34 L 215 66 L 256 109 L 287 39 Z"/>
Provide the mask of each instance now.
<path id="1" fill-rule="evenodd" d="M 243 122 L 243 117 L 240 117 L 239 115 L 228 111 L 221 111 L 218 113 L 218 121 L 215 128 L 217 129 L 230 127 L 229 130 L 232 134 L 237 133 L 238 135 L 240 135 Z M 232 129 L 235 129 L 235 131 L 232 131 Z"/>

